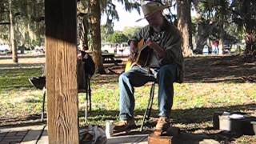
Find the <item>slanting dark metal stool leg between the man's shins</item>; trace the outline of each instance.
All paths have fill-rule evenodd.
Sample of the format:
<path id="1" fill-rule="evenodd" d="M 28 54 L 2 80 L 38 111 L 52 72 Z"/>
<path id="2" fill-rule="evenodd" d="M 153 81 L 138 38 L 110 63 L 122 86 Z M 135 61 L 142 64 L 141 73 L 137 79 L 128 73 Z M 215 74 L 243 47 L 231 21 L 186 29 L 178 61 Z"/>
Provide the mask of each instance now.
<path id="1" fill-rule="evenodd" d="M 149 98 L 149 102 L 147 104 L 144 116 L 143 116 L 143 120 L 142 120 L 142 126 L 140 127 L 140 131 L 143 130 L 143 127 L 145 126 L 145 120 L 148 120 L 150 118 L 150 113 L 151 113 L 151 109 L 152 109 L 152 105 L 153 105 L 153 100 L 154 100 L 154 84 L 152 84 L 151 89 L 150 89 L 150 98 Z"/>

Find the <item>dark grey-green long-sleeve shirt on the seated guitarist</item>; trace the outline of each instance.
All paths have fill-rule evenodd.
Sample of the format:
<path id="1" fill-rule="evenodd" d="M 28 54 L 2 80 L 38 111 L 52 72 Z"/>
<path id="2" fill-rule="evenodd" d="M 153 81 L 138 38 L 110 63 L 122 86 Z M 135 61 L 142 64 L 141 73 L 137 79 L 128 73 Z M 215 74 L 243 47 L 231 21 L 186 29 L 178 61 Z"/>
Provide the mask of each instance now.
<path id="1" fill-rule="evenodd" d="M 154 51 L 153 59 L 151 59 L 150 65 L 164 66 L 166 64 L 177 64 L 177 80 L 176 82 L 183 82 L 184 77 L 184 59 L 182 55 L 182 37 L 178 29 L 171 25 L 166 19 L 159 32 L 155 32 L 149 25 L 144 26 L 141 30 L 134 34 L 130 41 L 139 42 L 142 38 L 145 40 L 148 38 L 155 39 L 154 42 L 158 43 L 163 50 L 165 50 L 165 57 L 159 58 L 158 54 Z"/>

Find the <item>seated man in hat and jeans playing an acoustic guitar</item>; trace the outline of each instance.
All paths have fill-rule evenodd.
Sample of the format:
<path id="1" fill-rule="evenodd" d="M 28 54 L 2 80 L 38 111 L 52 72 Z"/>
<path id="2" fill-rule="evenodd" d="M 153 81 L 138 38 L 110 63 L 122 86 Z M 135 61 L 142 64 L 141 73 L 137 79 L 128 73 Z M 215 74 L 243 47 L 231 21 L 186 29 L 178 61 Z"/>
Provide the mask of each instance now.
<path id="1" fill-rule="evenodd" d="M 116 131 L 130 130 L 135 127 L 134 87 L 143 86 L 146 82 L 155 80 L 158 82 L 159 109 L 155 130 L 166 130 L 170 127 L 170 110 L 174 98 L 173 83 L 182 82 L 183 55 L 182 38 L 178 29 L 162 15 L 166 7 L 160 1 L 142 2 L 142 11 L 149 25 L 142 27 L 130 39 L 130 56 L 134 58 L 133 56 L 138 53 L 138 42 L 143 39 L 152 54 L 145 66 L 132 66 L 119 77 L 120 122 L 114 126 Z"/>

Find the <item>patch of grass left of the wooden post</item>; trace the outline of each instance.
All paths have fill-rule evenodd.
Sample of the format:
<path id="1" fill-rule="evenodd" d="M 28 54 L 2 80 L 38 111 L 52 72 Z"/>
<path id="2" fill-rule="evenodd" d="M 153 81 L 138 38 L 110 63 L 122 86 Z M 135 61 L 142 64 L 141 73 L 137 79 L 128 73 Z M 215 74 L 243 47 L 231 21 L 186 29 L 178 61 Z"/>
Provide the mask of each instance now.
<path id="1" fill-rule="evenodd" d="M 10 69 L 0 72 L 0 115 L 6 118 L 38 114 L 42 96 L 28 81 L 39 76 L 41 69 Z"/>

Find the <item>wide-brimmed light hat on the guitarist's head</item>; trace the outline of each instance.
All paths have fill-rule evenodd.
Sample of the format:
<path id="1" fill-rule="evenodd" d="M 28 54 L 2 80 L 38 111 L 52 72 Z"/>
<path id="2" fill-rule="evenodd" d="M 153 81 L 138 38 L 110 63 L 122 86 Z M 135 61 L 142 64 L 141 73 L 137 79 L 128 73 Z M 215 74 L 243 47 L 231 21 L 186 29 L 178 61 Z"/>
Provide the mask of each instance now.
<path id="1" fill-rule="evenodd" d="M 168 4 L 163 5 L 162 2 L 160 2 L 158 0 L 151 0 L 151 1 L 144 0 L 144 1 L 141 1 L 141 5 L 142 5 L 142 11 L 144 14 L 144 18 L 150 16 L 151 14 L 154 14 L 155 12 L 158 12 L 159 10 L 164 10 L 167 7 L 169 7 Z M 136 22 L 138 22 L 144 18 L 140 18 Z"/>

